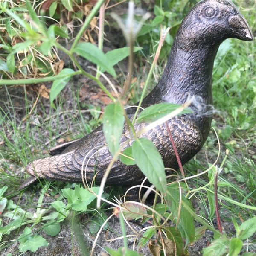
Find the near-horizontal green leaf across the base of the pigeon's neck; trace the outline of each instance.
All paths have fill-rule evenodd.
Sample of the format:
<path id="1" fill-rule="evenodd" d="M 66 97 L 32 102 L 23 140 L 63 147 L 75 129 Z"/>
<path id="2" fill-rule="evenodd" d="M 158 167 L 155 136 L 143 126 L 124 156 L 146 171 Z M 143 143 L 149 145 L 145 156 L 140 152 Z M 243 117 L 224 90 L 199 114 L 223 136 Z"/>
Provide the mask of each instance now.
<path id="1" fill-rule="evenodd" d="M 179 108 L 180 104 L 173 104 L 168 102 L 158 103 L 155 105 L 152 105 L 148 108 L 145 108 L 137 118 L 136 122 L 154 122 L 158 119 L 160 119 L 163 116 L 166 116 L 167 114 L 171 113 L 172 111 L 175 111 L 177 108 Z M 182 112 L 180 112 L 178 115 L 182 115 L 185 113 L 192 113 L 193 111 L 189 108 L 184 109 Z"/>

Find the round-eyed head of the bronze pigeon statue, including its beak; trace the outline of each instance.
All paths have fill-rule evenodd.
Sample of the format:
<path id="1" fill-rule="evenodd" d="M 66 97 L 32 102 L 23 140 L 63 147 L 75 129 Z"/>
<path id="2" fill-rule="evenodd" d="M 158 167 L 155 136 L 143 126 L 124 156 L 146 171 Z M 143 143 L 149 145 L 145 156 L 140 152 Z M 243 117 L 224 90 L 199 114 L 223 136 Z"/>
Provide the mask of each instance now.
<path id="1" fill-rule="evenodd" d="M 244 16 L 231 0 L 202 0 L 197 3 L 180 25 L 183 47 L 220 44 L 227 38 L 253 40 Z"/>

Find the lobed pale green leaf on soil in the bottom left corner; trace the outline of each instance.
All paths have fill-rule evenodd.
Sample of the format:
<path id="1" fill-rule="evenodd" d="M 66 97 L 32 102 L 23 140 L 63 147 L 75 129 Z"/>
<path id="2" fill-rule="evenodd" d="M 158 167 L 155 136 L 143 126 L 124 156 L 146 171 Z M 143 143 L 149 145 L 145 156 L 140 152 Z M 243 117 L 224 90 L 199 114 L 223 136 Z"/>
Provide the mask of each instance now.
<path id="1" fill-rule="evenodd" d="M 35 253 L 38 248 L 48 245 L 48 242 L 42 236 L 30 234 L 31 229 L 29 227 L 25 227 L 23 233 L 19 237 L 19 249 L 21 253 L 25 252 L 26 250 L 30 250 Z"/>

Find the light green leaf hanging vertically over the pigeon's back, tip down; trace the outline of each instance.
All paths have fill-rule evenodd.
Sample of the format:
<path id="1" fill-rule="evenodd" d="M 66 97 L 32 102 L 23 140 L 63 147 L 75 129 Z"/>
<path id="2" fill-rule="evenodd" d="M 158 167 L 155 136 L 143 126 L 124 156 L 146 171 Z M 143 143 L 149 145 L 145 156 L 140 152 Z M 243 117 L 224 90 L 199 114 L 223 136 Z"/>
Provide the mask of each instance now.
<path id="1" fill-rule="evenodd" d="M 112 155 L 119 149 L 125 117 L 119 102 L 107 105 L 103 114 L 103 131 Z"/>

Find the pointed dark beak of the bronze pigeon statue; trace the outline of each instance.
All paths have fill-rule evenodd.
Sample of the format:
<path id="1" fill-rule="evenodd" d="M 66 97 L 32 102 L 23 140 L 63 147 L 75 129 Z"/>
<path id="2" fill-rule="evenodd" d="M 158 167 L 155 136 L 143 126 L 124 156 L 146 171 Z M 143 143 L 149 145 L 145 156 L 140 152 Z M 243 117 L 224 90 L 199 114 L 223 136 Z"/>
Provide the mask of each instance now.
<path id="1" fill-rule="evenodd" d="M 247 21 L 241 13 L 230 16 L 228 22 L 233 30 L 232 34 L 234 38 L 238 38 L 244 41 L 253 40 L 253 33 L 251 32 Z"/>

